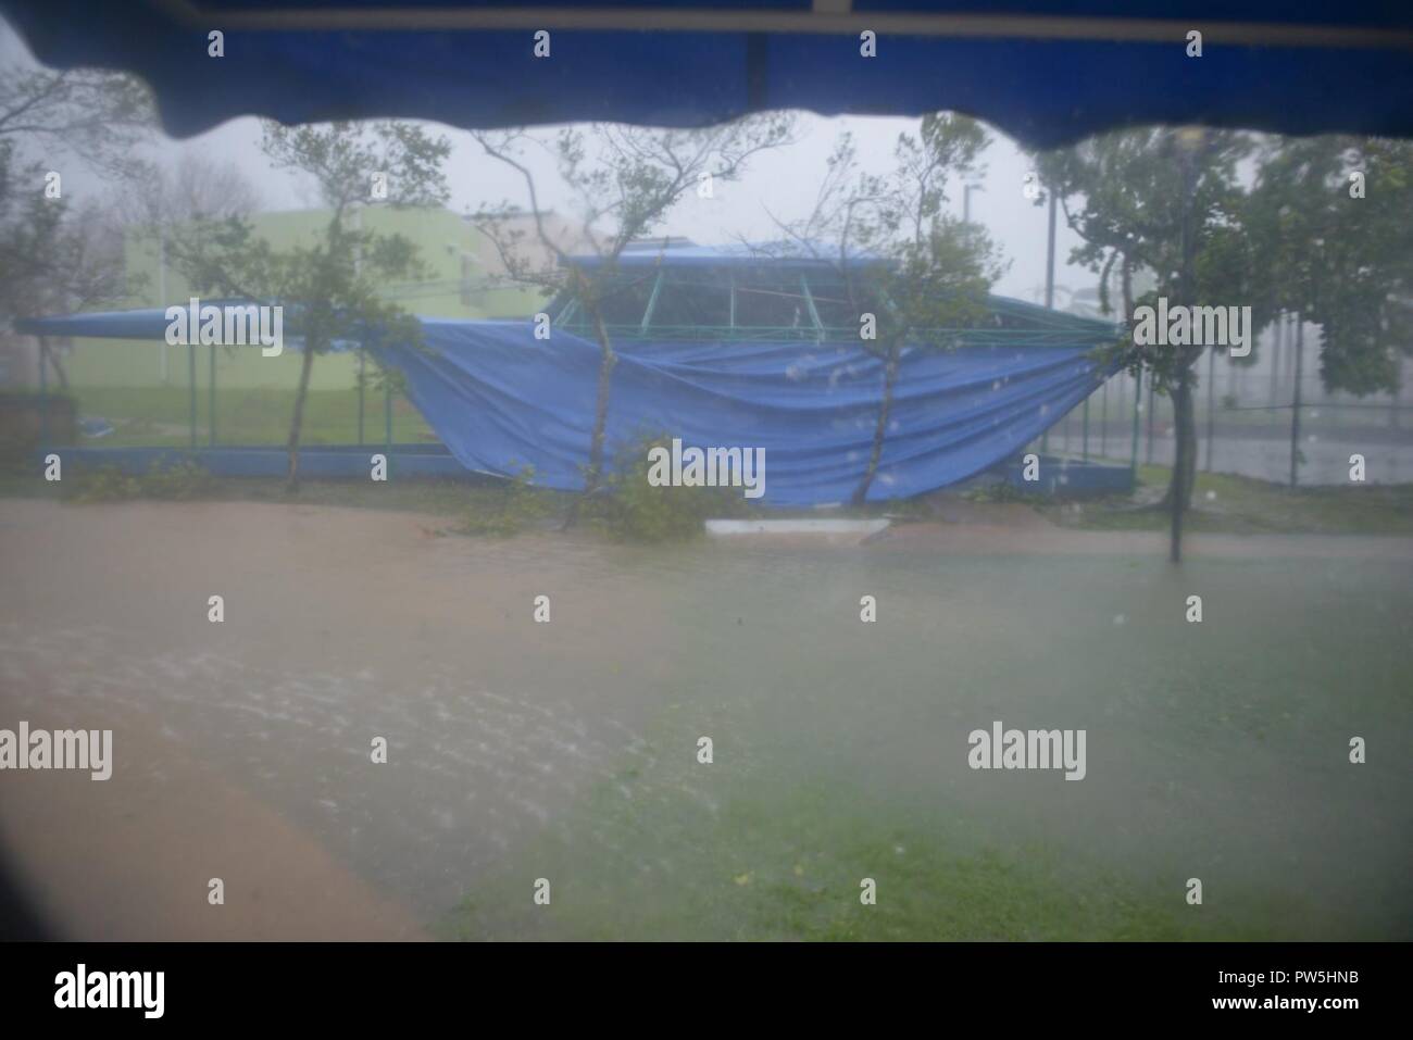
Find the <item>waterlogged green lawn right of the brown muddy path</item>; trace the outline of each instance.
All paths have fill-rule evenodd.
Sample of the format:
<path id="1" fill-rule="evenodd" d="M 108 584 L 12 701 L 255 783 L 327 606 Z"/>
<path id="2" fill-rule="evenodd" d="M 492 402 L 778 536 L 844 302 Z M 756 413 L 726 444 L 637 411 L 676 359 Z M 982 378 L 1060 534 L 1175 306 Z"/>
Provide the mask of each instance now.
<path id="1" fill-rule="evenodd" d="M 667 567 L 642 555 L 615 578 Z M 670 568 L 681 593 L 643 653 L 673 678 L 642 740 L 468 876 L 442 935 L 1413 935 L 1406 562 L 1177 575 L 1160 558 L 701 548 Z M 859 589 L 886 622 L 859 625 Z M 1183 620 L 1190 591 L 1204 625 Z M 1087 728 L 1088 776 L 969 770 L 966 733 L 991 719 Z M 1351 764 L 1351 733 L 1382 760 Z"/>

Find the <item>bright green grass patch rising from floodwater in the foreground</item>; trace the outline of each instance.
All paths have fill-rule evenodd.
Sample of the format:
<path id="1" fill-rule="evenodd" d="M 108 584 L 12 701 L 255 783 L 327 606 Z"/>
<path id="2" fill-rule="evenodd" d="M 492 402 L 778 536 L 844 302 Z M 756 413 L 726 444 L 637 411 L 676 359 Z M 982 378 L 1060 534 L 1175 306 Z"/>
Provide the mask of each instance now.
<path id="1" fill-rule="evenodd" d="M 691 859 L 690 880 L 668 886 L 651 869 L 633 868 L 622 879 L 585 876 L 572 848 L 547 839 L 536 863 L 551 878 L 565 879 L 551 889 L 548 907 L 517 907 L 528 903 L 524 878 L 496 879 L 473 886 L 473 894 L 435 933 L 452 940 L 790 941 L 1191 940 L 1215 934 L 1198 918 L 1184 918 L 1171 899 L 1102 873 L 1081 878 L 1044 846 L 1020 855 L 959 853 L 930 831 L 890 828 L 877 817 L 801 803 L 742 798 L 709 822 L 688 805 L 677 808 L 687 810 L 687 817 L 657 821 L 671 837 L 640 835 L 639 848 L 656 855 L 668 841 L 695 842 L 699 855 Z M 613 812 L 606 805 L 601 811 Z M 593 810 L 584 812 L 593 818 Z M 877 893 L 869 906 L 861 899 L 865 878 Z"/>

